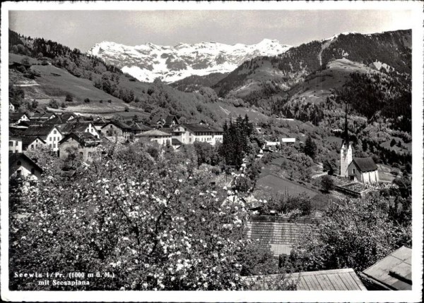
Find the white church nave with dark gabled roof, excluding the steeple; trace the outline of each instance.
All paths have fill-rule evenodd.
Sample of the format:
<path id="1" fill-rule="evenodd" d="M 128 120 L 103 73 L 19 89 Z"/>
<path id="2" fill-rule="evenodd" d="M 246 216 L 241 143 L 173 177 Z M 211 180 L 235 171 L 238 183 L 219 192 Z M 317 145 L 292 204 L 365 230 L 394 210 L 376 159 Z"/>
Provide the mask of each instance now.
<path id="1" fill-rule="evenodd" d="M 348 175 L 351 180 L 360 183 L 378 183 L 378 167 L 371 157 L 353 158 L 348 166 Z"/>

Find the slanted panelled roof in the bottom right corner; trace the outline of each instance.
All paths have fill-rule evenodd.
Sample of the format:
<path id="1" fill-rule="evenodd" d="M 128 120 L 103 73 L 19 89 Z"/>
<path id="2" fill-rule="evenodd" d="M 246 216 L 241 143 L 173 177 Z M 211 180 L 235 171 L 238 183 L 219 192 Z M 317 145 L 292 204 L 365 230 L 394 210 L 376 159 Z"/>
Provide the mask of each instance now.
<path id="1" fill-rule="evenodd" d="M 387 290 L 411 290 L 412 249 L 402 246 L 363 271 L 363 276 Z"/>

